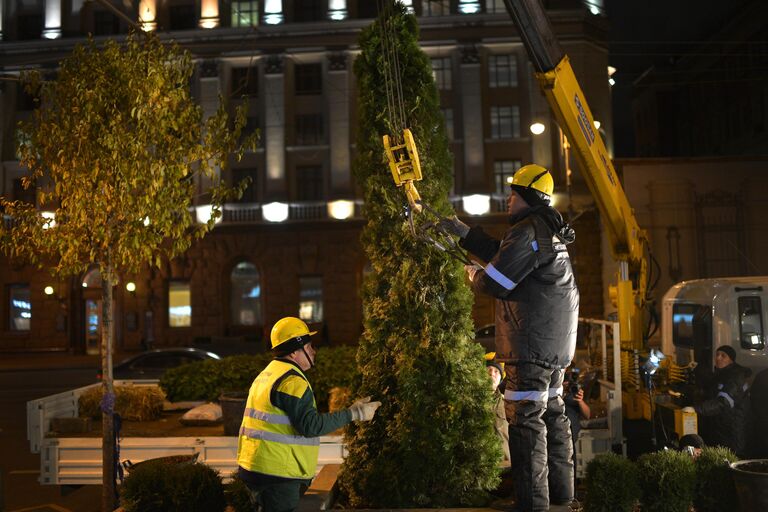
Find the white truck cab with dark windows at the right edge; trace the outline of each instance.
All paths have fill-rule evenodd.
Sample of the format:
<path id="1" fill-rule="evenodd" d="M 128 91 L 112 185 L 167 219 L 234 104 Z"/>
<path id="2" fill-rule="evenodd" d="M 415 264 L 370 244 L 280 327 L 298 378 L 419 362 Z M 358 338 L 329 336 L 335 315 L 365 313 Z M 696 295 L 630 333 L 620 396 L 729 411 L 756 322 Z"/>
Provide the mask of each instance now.
<path id="1" fill-rule="evenodd" d="M 768 368 L 768 276 L 696 279 L 674 285 L 662 302 L 662 351 L 680 366 L 711 369 L 730 345 L 755 375 Z"/>

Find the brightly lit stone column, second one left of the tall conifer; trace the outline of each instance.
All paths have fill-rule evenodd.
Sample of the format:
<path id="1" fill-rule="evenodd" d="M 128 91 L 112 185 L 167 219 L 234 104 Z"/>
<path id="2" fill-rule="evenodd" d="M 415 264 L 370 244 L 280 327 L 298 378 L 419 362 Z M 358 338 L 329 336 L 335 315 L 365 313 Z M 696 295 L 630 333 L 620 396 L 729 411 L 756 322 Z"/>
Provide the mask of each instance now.
<path id="1" fill-rule="evenodd" d="M 285 190 L 285 75 L 283 57 L 272 55 L 264 68 L 264 136 L 267 195 Z"/>

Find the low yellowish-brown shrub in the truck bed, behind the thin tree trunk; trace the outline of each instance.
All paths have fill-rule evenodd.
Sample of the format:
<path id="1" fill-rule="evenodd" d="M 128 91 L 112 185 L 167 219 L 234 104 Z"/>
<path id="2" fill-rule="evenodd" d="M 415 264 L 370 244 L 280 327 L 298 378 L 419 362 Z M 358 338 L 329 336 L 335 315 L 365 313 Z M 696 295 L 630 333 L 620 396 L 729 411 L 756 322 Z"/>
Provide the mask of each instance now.
<path id="1" fill-rule="evenodd" d="M 81 418 L 101 418 L 104 388 L 91 388 L 77 401 Z M 115 412 L 130 421 L 148 421 L 160 417 L 165 395 L 157 386 L 116 386 Z"/>

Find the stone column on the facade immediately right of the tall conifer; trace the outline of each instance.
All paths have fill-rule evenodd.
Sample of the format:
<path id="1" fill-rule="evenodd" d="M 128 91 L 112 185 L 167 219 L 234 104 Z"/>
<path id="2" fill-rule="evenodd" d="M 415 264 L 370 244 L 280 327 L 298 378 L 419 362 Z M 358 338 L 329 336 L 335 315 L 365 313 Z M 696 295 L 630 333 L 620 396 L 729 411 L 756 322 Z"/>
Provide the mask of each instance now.
<path id="1" fill-rule="evenodd" d="M 483 102 L 480 91 L 480 55 L 475 46 L 461 49 L 459 71 L 464 119 L 464 192 L 485 185 L 483 172 Z"/>

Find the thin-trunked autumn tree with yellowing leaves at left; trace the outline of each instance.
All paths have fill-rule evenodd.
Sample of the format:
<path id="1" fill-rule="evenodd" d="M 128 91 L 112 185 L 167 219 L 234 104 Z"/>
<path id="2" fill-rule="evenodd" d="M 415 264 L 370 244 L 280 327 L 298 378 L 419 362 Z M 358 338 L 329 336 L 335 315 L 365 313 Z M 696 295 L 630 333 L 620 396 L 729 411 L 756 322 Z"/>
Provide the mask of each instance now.
<path id="1" fill-rule="evenodd" d="M 54 80 L 24 77 L 40 104 L 20 126 L 23 184 L 37 189 L 38 204 L 55 218 L 0 198 L 12 219 L 0 227 L 0 246 L 58 275 L 101 273 L 104 512 L 115 505 L 113 286 L 120 275 L 187 250 L 247 185 L 231 188 L 219 177 L 230 155 L 253 145 L 253 136 L 239 143 L 244 113 L 233 123 L 220 101 L 205 118 L 190 94 L 193 70 L 188 52 L 140 34 L 77 46 Z M 190 214 L 199 183 L 210 184 L 207 224 Z"/>

